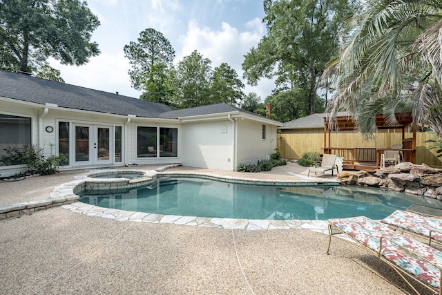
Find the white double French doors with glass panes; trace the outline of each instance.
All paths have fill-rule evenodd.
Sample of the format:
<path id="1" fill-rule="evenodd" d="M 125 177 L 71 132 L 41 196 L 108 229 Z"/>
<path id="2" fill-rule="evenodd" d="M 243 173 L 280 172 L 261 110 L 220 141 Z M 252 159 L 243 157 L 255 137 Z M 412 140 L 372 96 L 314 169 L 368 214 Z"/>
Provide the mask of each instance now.
<path id="1" fill-rule="evenodd" d="M 112 126 L 75 124 L 75 164 L 111 164 Z"/>

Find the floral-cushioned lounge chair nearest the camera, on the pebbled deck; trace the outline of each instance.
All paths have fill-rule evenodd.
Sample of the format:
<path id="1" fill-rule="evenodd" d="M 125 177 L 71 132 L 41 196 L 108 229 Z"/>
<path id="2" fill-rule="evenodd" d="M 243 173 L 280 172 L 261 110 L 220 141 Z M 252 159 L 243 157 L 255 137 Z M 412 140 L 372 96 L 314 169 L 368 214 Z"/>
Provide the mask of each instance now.
<path id="1" fill-rule="evenodd" d="M 398 234 L 382 222 L 364 216 L 330 219 L 329 254 L 332 237 L 343 234 L 390 265 L 410 287 L 419 294 L 410 279 L 441 292 L 442 252 L 423 242 Z M 406 277 L 405 277 L 406 276 Z M 409 278 L 409 279 L 407 279 Z"/>

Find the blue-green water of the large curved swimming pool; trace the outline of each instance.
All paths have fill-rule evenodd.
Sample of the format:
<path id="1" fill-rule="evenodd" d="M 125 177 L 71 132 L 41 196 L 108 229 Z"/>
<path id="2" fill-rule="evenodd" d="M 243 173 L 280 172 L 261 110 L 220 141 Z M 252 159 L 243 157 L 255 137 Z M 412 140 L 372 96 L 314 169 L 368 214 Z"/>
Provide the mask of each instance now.
<path id="1" fill-rule="evenodd" d="M 79 201 L 164 215 L 270 220 L 381 219 L 411 204 L 442 209 L 435 200 L 369 187 L 278 187 L 202 178 L 158 178 L 150 187 L 118 193 L 84 191 Z"/>

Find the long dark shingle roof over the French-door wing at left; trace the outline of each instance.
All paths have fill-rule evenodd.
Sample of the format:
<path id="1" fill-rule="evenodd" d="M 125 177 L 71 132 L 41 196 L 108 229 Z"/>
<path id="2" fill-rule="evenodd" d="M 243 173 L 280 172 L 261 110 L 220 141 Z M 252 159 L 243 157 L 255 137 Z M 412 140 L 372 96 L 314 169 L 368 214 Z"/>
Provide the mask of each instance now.
<path id="1" fill-rule="evenodd" d="M 0 70 L 0 96 L 36 104 L 50 103 L 63 108 L 140 117 L 158 117 L 172 110 L 165 104 L 3 70 Z"/>

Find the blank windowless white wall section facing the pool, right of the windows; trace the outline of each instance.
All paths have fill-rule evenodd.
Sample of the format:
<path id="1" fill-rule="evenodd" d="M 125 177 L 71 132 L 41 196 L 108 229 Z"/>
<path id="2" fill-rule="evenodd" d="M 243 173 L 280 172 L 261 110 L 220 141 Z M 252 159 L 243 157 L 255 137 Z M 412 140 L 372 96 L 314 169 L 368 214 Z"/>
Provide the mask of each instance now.
<path id="1" fill-rule="evenodd" d="M 182 126 L 182 165 L 232 171 L 233 122 L 199 122 Z"/>

